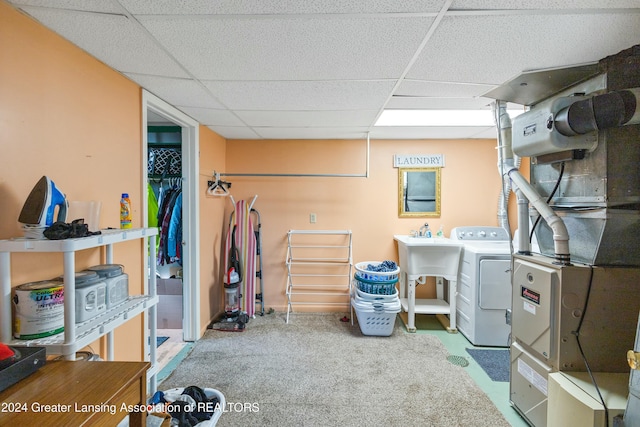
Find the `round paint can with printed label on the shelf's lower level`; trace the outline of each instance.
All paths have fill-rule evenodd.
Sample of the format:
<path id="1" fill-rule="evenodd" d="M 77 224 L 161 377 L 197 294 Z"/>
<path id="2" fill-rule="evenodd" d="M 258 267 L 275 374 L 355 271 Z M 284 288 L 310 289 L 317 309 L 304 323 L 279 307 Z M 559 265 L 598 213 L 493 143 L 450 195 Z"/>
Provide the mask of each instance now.
<path id="1" fill-rule="evenodd" d="M 14 290 L 13 304 L 15 338 L 31 340 L 64 331 L 64 286 L 59 281 L 19 285 Z"/>

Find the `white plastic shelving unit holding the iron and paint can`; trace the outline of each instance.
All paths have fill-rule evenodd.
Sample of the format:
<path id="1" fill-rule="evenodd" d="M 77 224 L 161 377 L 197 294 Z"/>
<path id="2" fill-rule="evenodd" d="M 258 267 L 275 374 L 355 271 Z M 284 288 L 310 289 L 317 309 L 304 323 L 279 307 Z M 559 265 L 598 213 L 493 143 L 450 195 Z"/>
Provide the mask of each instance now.
<path id="1" fill-rule="evenodd" d="M 134 228 L 126 230 L 101 230 L 101 234 L 65 240 L 34 240 L 15 238 L 0 240 L 0 341 L 17 346 L 40 346 L 47 353 L 61 354 L 73 360 L 76 351 L 89 345 L 96 339 L 107 336 L 107 360 L 113 360 L 113 331 L 118 326 L 148 310 L 149 339 L 156 342 L 156 245 L 143 245 L 145 252 L 149 248 L 148 294 L 131 295 L 122 303 L 85 322 L 76 323 L 75 319 L 75 254 L 78 251 L 105 247 L 105 263 L 113 263 L 113 245 L 136 239 L 157 236 L 156 228 Z M 13 339 L 11 321 L 11 254 L 49 252 L 63 254 L 64 267 L 64 333 L 34 340 Z M 150 345 L 149 357 L 151 369 L 148 373 L 150 390 L 156 389 L 156 346 Z"/>

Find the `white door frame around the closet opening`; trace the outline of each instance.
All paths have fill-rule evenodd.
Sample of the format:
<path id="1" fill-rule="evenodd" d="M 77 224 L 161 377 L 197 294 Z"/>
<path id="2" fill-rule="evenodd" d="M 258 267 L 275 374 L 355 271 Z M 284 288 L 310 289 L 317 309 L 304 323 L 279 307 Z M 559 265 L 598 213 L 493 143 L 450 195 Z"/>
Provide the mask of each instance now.
<path id="1" fill-rule="evenodd" d="M 199 124 L 172 105 L 142 89 L 142 183 L 147 192 L 147 111 L 153 111 L 182 128 L 182 245 L 183 267 L 182 334 L 185 341 L 200 338 L 200 203 L 198 199 Z M 143 197 L 142 218 L 148 226 L 148 200 Z M 146 268 L 145 268 L 145 271 Z"/>

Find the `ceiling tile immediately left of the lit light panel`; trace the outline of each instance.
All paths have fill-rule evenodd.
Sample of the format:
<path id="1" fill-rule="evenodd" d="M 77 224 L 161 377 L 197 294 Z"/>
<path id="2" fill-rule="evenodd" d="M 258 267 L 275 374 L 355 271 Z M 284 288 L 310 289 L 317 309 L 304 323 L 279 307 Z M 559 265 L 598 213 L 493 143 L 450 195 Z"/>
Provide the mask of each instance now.
<path id="1" fill-rule="evenodd" d="M 378 111 L 236 111 L 249 126 L 340 127 L 371 126 Z"/>

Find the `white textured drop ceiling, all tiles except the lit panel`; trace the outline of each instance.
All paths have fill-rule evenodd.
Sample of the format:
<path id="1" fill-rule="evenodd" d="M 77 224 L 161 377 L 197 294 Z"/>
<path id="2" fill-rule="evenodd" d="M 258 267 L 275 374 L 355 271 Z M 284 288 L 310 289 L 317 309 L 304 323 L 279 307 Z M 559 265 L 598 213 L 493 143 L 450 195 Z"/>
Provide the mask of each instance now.
<path id="1" fill-rule="evenodd" d="M 494 138 L 374 123 L 385 108 L 488 109 L 482 95 L 523 71 L 640 41 L 638 0 L 10 3 L 229 139 Z"/>

